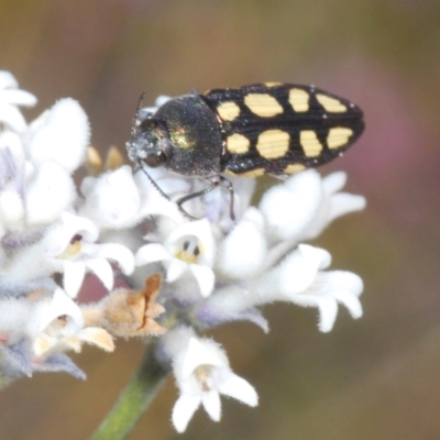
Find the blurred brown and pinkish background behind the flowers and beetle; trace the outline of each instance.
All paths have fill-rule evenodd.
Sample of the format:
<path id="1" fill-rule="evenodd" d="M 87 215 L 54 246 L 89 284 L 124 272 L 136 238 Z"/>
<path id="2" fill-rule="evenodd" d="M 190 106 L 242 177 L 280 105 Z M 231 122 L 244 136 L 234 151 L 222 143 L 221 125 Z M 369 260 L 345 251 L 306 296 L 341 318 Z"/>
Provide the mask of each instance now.
<path id="1" fill-rule="evenodd" d="M 271 332 L 212 332 L 260 406 L 223 399 L 220 424 L 199 410 L 185 435 L 169 417 L 169 380 L 130 439 L 440 438 L 440 2 L 436 0 L 2 0 L 0 68 L 38 97 L 80 101 L 92 144 L 123 147 L 141 91 L 315 84 L 356 102 L 366 132 L 321 168 L 349 173 L 367 209 L 316 244 L 365 284 L 364 317 L 346 310 L 319 333 L 317 311 L 267 307 Z M 263 180 L 263 186 L 270 185 Z M 37 374 L 0 394 L 0 439 L 87 439 L 143 352 L 75 356 L 78 382 Z"/>

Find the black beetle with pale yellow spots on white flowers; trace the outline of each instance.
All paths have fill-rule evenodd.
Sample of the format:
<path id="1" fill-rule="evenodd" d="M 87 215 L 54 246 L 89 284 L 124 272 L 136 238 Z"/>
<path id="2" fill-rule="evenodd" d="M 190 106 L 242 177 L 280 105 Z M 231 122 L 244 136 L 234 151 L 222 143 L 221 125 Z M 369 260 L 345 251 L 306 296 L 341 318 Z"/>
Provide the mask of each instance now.
<path id="1" fill-rule="evenodd" d="M 219 185 L 227 187 L 231 217 L 233 188 L 221 173 L 285 176 L 322 165 L 340 156 L 364 129 L 359 107 L 314 86 L 266 82 L 213 89 L 170 99 L 155 113 L 142 111 L 141 101 L 127 143 L 130 160 L 142 168 L 164 166 L 209 182 L 202 191 L 177 200 L 180 209 Z"/>

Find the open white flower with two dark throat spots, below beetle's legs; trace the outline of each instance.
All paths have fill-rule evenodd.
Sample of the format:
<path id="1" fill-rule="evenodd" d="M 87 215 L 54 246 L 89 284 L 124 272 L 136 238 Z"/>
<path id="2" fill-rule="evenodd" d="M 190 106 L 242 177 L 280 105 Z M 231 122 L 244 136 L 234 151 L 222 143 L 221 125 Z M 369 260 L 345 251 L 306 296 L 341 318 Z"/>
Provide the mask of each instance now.
<path id="1" fill-rule="evenodd" d="M 173 283 L 187 271 L 193 273 L 202 296 L 209 296 L 215 284 L 212 271 L 215 241 L 208 220 L 197 220 L 178 226 L 164 244 L 142 246 L 136 255 L 136 266 L 153 262 L 166 265 L 166 280 Z"/>

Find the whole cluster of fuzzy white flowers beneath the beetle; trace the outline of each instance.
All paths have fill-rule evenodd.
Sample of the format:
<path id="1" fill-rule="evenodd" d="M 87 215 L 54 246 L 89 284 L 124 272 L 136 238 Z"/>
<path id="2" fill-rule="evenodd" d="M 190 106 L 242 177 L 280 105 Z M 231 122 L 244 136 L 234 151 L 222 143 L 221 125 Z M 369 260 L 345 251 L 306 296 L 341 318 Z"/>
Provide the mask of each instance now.
<path id="1" fill-rule="evenodd" d="M 148 336 L 157 360 L 174 373 L 180 396 L 173 424 L 182 432 L 200 404 L 219 420 L 220 394 L 257 404 L 255 389 L 202 331 L 237 320 L 267 331 L 260 306 L 275 301 L 316 307 L 324 332 L 338 304 L 361 317 L 361 278 L 329 271 L 330 254 L 305 244 L 333 219 L 364 207 L 363 197 L 341 193 L 344 173 L 296 174 L 257 206 L 251 206 L 255 180 L 231 178 L 237 220 L 221 188 L 186 202 L 196 218 L 189 220 L 170 200 L 204 183 L 154 169 L 168 200 L 117 152 L 103 163 L 88 146 L 88 120 L 76 101 L 59 100 L 28 124 L 19 107 L 35 101 L 0 73 L 3 384 L 36 371 L 84 377 L 66 351 L 84 342 L 111 351 L 114 337 Z M 92 175 L 77 189 L 73 173 L 81 165 Z M 105 295 L 81 305 L 86 273 Z"/>

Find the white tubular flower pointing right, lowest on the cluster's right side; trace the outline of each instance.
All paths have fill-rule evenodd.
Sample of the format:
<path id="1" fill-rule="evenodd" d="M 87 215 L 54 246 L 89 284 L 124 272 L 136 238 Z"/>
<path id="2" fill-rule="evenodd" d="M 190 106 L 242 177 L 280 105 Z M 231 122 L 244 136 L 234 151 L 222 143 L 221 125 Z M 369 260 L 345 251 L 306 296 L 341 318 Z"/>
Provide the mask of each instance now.
<path id="1" fill-rule="evenodd" d="M 343 304 L 353 318 L 362 316 L 359 300 L 363 290 L 362 279 L 350 272 L 323 271 L 330 265 L 330 254 L 308 244 L 298 245 L 276 267 L 263 272 L 244 285 L 227 285 L 216 289 L 195 315 L 212 327 L 219 322 L 249 320 L 267 331 L 267 322 L 257 306 L 274 301 L 290 301 L 319 310 L 319 330 L 332 329 L 338 302 Z"/>

